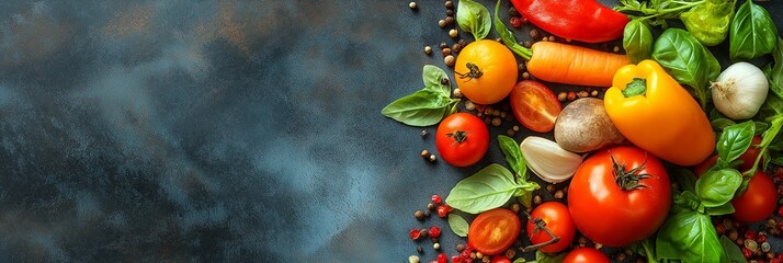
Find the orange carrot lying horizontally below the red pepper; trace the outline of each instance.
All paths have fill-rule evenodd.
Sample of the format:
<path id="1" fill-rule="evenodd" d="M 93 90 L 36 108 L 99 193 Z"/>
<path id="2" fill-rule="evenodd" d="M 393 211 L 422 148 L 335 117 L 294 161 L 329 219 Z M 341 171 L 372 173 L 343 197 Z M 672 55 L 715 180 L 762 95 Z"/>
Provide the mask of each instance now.
<path id="1" fill-rule="evenodd" d="M 566 84 L 611 87 L 614 72 L 631 64 L 625 55 L 555 42 L 537 42 L 523 53 L 533 77 Z"/>

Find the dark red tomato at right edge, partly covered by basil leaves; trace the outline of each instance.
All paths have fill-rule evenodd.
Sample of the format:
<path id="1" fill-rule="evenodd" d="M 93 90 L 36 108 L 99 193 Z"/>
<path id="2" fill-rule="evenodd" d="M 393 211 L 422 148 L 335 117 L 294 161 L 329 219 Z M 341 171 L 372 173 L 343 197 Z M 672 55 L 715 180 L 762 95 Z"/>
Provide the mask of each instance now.
<path id="1" fill-rule="evenodd" d="M 778 192 L 772 179 L 762 171 L 756 171 L 748 182 L 748 190 L 731 201 L 734 218 L 744 222 L 757 222 L 774 213 Z"/>

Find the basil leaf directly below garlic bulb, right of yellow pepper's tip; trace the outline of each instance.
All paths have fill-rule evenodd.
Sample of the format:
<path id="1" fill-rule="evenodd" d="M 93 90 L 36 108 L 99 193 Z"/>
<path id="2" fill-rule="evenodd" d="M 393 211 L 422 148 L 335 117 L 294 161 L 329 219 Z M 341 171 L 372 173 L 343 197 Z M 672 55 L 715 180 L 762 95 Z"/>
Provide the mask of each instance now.
<path id="1" fill-rule="evenodd" d="M 752 121 L 724 128 L 715 147 L 718 152 L 718 158 L 726 162 L 736 160 L 748 150 L 748 147 L 750 147 L 753 140 L 753 135 L 756 135 L 756 123 Z"/>

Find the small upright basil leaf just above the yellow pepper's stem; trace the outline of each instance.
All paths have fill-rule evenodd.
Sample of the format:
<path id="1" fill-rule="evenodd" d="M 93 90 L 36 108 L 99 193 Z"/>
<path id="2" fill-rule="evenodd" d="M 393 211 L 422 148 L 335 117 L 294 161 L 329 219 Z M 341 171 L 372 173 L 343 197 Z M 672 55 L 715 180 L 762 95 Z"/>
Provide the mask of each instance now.
<path id="1" fill-rule="evenodd" d="M 653 32 L 640 20 L 632 20 L 623 31 L 623 48 L 632 62 L 638 64 L 653 54 Z"/>

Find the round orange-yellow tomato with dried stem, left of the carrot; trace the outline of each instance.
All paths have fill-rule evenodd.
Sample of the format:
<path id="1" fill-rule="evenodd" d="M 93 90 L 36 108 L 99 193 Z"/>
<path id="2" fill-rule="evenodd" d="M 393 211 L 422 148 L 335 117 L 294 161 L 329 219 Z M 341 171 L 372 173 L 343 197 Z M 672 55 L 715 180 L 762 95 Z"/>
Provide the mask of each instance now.
<path id="1" fill-rule="evenodd" d="M 467 44 L 454 64 L 454 80 L 468 100 L 478 104 L 497 103 L 517 83 L 519 66 L 503 44 L 483 39 Z"/>

